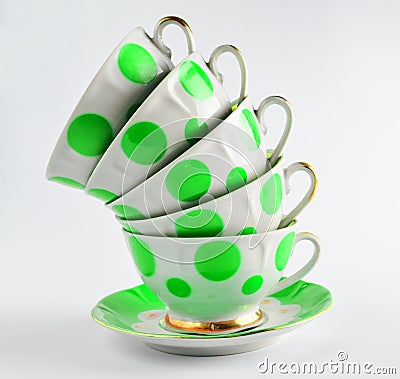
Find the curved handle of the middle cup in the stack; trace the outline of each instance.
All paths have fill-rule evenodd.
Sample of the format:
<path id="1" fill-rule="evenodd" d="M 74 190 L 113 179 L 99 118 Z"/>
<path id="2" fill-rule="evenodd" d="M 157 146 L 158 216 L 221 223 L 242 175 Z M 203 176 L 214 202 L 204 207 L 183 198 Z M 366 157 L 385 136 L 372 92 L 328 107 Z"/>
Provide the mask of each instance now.
<path id="1" fill-rule="evenodd" d="M 269 97 L 265 98 L 260 103 L 260 106 L 258 107 L 258 109 L 256 111 L 257 119 L 258 119 L 260 125 L 262 126 L 264 135 L 268 131 L 268 129 L 267 129 L 266 125 L 265 125 L 265 121 L 264 121 L 265 117 L 264 117 L 264 115 L 265 115 L 265 112 L 267 111 L 267 109 L 271 105 L 279 105 L 279 106 L 281 106 L 283 108 L 283 110 L 285 111 L 285 114 L 286 114 L 285 128 L 283 130 L 282 136 L 281 136 L 278 144 L 276 145 L 276 148 L 274 149 L 274 152 L 272 153 L 271 157 L 269 158 L 271 166 L 274 166 L 275 163 L 277 162 L 277 160 L 279 159 L 279 157 L 281 156 L 283 148 L 286 145 L 286 142 L 288 140 L 290 131 L 292 129 L 293 111 L 292 111 L 292 107 L 291 107 L 289 101 L 287 101 L 285 98 L 283 98 L 281 96 L 269 96 Z"/>

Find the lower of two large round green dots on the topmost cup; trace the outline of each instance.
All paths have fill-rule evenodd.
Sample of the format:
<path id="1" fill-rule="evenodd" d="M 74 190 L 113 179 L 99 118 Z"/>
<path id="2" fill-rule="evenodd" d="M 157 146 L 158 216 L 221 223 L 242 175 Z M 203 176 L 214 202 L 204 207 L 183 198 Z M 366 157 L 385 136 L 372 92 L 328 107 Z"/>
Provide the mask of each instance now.
<path id="1" fill-rule="evenodd" d="M 112 139 L 110 123 L 103 116 L 94 113 L 76 117 L 67 131 L 67 141 L 71 149 L 87 157 L 103 154 Z"/>

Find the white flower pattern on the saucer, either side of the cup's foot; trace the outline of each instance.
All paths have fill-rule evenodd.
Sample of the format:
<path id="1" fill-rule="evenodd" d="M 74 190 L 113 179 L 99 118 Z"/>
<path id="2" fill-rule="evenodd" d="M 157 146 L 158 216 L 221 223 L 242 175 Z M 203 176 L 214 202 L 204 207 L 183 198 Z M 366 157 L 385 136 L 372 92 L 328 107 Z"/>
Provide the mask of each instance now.
<path id="1" fill-rule="evenodd" d="M 301 306 L 299 304 L 282 305 L 279 300 L 273 297 L 267 297 L 261 301 L 260 309 L 267 316 L 266 322 L 257 326 L 253 330 L 274 328 L 277 326 L 283 326 L 290 321 L 296 321 L 299 319 L 296 315 L 300 312 Z M 160 309 L 141 312 L 138 315 L 138 318 L 139 320 L 142 320 L 142 322 L 134 323 L 131 327 L 139 333 L 176 334 L 161 326 L 162 318 L 165 316 L 165 313 L 165 310 Z"/>

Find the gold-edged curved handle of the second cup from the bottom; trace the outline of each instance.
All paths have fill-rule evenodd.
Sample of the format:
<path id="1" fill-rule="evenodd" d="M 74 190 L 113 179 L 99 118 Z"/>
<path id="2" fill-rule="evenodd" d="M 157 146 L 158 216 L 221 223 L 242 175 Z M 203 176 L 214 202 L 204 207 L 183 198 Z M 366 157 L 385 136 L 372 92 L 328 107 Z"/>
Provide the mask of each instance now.
<path id="1" fill-rule="evenodd" d="M 308 176 L 310 177 L 310 186 L 300 202 L 282 219 L 281 223 L 278 226 L 278 229 L 285 228 L 299 215 L 304 207 L 313 199 L 315 191 L 318 187 L 318 178 L 313 167 L 306 162 L 296 162 L 284 169 L 283 172 L 286 183 L 286 193 L 290 192 L 290 177 L 297 171 L 304 171 L 308 174 Z"/>

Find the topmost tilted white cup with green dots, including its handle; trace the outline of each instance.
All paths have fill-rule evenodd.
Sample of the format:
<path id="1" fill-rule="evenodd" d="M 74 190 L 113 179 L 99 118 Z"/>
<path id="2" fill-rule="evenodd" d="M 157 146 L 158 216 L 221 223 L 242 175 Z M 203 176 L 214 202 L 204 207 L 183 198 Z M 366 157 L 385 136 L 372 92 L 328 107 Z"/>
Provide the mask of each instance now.
<path id="1" fill-rule="evenodd" d="M 195 49 L 192 31 L 178 17 L 165 17 L 150 38 L 133 29 L 107 58 L 78 105 L 50 158 L 46 177 L 83 189 L 115 135 L 149 93 L 173 69 L 171 51 L 163 43 L 167 25 L 185 33 L 189 54 Z"/>

